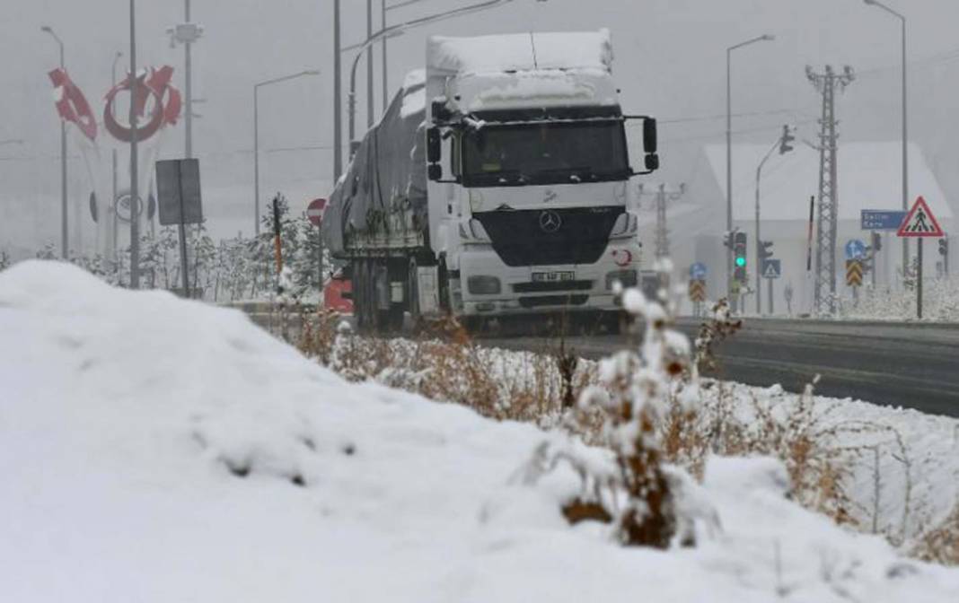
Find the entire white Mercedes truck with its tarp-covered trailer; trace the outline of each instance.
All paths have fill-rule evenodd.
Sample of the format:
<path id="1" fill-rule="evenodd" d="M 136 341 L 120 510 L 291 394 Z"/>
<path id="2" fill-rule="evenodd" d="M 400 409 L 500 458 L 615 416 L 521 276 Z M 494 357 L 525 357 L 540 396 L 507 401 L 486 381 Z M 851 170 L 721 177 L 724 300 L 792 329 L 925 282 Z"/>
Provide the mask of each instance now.
<path id="1" fill-rule="evenodd" d="M 641 262 L 627 184 L 659 158 L 655 120 L 622 112 L 612 60 L 605 30 L 429 39 L 323 220 L 361 329 L 618 313 L 615 284 L 636 285 Z"/>

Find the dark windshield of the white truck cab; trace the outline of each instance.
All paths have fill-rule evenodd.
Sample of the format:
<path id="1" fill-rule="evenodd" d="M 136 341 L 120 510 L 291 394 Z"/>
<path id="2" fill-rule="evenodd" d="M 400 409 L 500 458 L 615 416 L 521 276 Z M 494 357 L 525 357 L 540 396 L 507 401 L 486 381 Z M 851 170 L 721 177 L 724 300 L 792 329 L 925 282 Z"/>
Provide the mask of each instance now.
<path id="1" fill-rule="evenodd" d="M 463 137 L 465 186 L 522 186 L 628 177 L 619 120 L 487 125 Z"/>

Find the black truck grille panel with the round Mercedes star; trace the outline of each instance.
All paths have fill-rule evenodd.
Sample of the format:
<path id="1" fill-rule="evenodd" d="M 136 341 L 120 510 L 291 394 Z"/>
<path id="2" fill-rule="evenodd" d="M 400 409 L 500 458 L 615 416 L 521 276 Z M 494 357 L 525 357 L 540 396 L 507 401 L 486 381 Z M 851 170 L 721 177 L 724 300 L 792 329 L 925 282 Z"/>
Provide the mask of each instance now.
<path id="1" fill-rule="evenodd" d="M 506 266 L 595 264 L 624 211 L 622 206 L 499 210 L 481 212 L 474 218 Z M 557 228 L 541 226 L 545 212 L 559 218 Z"/>

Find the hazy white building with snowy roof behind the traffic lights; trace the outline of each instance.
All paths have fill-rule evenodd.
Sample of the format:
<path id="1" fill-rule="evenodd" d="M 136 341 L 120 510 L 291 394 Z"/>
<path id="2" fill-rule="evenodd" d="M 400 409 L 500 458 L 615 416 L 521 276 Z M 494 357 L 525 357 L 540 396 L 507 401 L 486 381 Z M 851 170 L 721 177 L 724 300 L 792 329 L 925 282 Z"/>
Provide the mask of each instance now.
<path id="1" fill-rule="evenodd" d="M 756 170 L 768 145 L 738 144 L 733 147 L 733 222 L 747 233 L 750 286 L 755 283 L 756 257 Z M 870 242 L 870 233 L 860 228 L 860 210 L 901 210 L 901 143 L 848 143 L 838 150 L 839 223 L 836 242 L 836 292 L 850 296 L 845 283 L 845 244 L 853 239 Z M 705 264 L 707 294 L 718 299 L 726 294 L 726 249 L 722 236 L 726 230 L 726 146 L 708 145 L 697 160 L 686 194 L 669 202 L 667 227 L 670 256 L 675 280 L 686 283 L 693 262 Z M 646 185 L 646 191 L 649 191 Z M 809 312 L 812 300 L 812 272 L 807 272 L 809 198 L 819 191 L 819 152 L 804 145 L 784 155 L 775 151 L 762 170 L 760 186 L 760 231 L 764 241 L 772 241 L 774 258 L 782 261 L 783 276 L 774 282 L 776 313 L 785 312 L 784 289 L 794 291 L 793 313 Z M 922 150 L 909 147 L 910 205 L 922 195 L 942 228 L 951 232 L 953 214 L 936 177 L 927 166 Z M 655 211 L 652 197 L 643 197 L 643 256 L 646 264 L 654 255 Z M 818 220 L 818 209 L 813 224 Z M 910 244 L 910 256 L 916 245 Z M 896 269 L 901 264 L 901 240 L 895 232 L 882 233 L 882 250 L 877 256 L 877 286 L 896 284 Z M 954 256 L 954 253 L 950 255 Z M 943 258 L 935 239 L 924 247 L 924 270 L 935 276 Z M 813 233 L 812 270 L 815 270 L 815 233 Z M 866 275 L 869 283 L 872 275 Z M 762 283 L 763 307 L 767 285 Z M 746 297 L 746 312 L 754 312 L 755 297 Z M 689 310 L 689 306 L 687 307 Z"/>

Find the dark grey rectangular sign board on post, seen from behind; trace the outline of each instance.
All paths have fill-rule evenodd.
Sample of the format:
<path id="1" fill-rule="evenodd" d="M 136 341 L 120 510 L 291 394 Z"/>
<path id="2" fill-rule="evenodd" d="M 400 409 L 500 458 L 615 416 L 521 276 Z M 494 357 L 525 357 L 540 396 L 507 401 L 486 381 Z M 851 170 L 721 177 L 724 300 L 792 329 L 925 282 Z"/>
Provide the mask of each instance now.
<path id="1" fill-rule="evenodd" d="M 161 226 L 176 224 L 179 230 L 180 273 L 183 275 L 183 296 L 190 294 L 186 258 L 186 224 L 203 221 L 199 194 L 199 160 L 168 159 L 156 162 L 156 194 Z"/>

